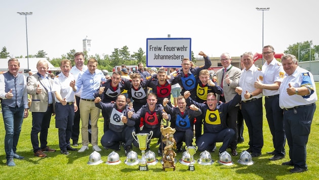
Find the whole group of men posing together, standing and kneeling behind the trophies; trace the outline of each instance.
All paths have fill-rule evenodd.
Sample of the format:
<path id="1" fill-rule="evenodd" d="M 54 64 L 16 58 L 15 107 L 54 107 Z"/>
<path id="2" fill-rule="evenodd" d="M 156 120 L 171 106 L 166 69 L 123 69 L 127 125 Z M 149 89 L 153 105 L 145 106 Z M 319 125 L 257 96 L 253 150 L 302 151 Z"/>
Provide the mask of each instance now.
<path id="1" fill-rule="evenodd" d="M 166 120 L 176 129 L 177 152 L 182 151 L 183 142 L 192 146 L 195 137 L 198 151 L 214 152 L 216 143 L 222 142 L 219 153 L 230 148 L 236 156 L 237 143 L 244 141 L 245 119 L 249 132 L 247 151 L 258 157 L 263 147 L 262 97 L 265 96 L 274 148 L 267 152 L 273 155 L 269 160 L 285 157 L 287 139 L 291 160 L 283 165 L 293 165 L 291 172 L 305 171 L 306 144 L 317 100 L 313 76 L 298 66 L 293 55 L 284 55 L 282 62 L 278 62 L 272 46 L 265 46 L 262 54 L 266 60 L 262 69 L 254 65 L 251 52 L 241 56 L 242 69 L 239 69 L 231 65 L 231 56 L 223 53 L 220 56 L 223 67 L 213 78 L 207 70 L 211 60 L 203 52 L 198 55 L 204 57 L 204 66 L 195 67 L 184 58 L 182 68 L 173 69 L 170 74 L 165 68 L 148 74 L 140 63 L 136 73 L 128 75 L 123 67 L 111 76 L 97 69 L 94 58 L 85 66 L 84 54 L 79 52 L 74 55 L 75 66 L 71 67 L 69 60 L 61 61 L 61 73 L 54 79 L 48 78 L 47 62 L 40 60 L 36 65 L 38 72 L 27 80 L 18 73 L 18 60 L 12 58 L 8 62 L 9 71 L 0 75 L 7 164 L 14 166 L 14 158 L 24 158 L 16 154 L 16 146 L 28 110 L 32 112 L 31 143 L 38 157 L 56 151 L 47 145 L 54 114 L 62 154 L 77 150 L 70 146 L 70 139 L 74 147 L 78 146 L 80 119 L 82 147 L 78 152 L 88 150 L 89 143 L 94 151 L 101 151 L 97 125 L 101 111 L 104 118 L 101 145 L 105 149 L 120 150 L 123 146 L 127 155 L 133 146 L 138 147 L 133 131 L 153 131 L 153 138 L 159 139 L 158 155 L 162 156 L 165 144 L 160 141 L 163 138 L 160 127 Z M 27 94 L 32 97 L 30 107 Z"/>

